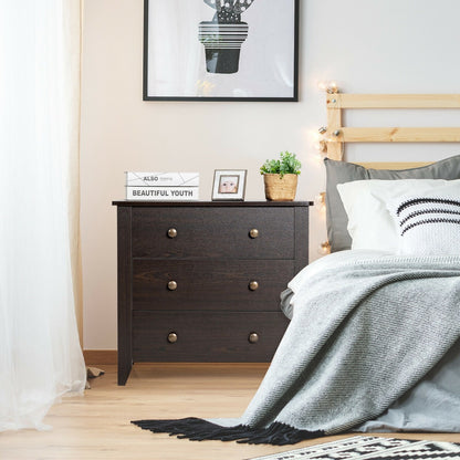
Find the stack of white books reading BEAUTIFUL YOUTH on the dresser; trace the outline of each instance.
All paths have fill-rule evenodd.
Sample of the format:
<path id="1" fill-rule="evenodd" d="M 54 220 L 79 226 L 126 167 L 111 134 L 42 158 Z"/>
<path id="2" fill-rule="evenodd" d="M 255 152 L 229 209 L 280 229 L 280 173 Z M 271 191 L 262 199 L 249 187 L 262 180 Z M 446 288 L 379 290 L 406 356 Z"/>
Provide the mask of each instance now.
<path id="1" fill-rule="evenodd" d="M 195 201 L 199 180 L 198 172 L 126 172 L 126 199 Z"/>

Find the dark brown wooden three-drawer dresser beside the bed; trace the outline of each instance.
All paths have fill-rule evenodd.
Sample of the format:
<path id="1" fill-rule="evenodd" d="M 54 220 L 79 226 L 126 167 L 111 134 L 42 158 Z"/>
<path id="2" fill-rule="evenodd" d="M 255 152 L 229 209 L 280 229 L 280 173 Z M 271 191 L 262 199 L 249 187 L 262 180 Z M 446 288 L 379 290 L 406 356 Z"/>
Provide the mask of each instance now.
<path id="1" fill-rule="evenodd" d="M 139 362 L 270 362 L 280 293 L 309 262 L 309 206 L 114 201 L 118 385 Z"/>

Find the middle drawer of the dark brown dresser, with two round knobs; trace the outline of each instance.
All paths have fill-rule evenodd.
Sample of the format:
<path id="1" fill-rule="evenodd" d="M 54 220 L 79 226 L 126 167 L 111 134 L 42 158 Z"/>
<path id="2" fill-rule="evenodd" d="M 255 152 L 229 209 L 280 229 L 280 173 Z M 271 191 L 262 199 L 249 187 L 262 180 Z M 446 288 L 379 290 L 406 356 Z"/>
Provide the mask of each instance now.
<path id="1" fill-rule="evenodd" d="M 133 310 L 276 311 L 291 260 L 133 260 Z"/>

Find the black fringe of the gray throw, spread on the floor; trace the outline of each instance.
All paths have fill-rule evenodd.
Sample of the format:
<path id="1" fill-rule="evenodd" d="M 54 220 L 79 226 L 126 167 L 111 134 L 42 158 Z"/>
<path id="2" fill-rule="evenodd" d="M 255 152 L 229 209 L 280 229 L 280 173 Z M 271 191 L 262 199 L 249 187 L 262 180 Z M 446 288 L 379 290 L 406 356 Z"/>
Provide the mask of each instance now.
<path id="1" fill-rule="evenodd" d="M 135 420 L 143 430 L 153 432 L 168 432 L 169 436 L 177 436 L 179 439 L 191 441 L 219 440 L 237 441 L 248 445 L 295 445 L 304 439 L 313 439 L 325 436 L 324 431 L 297 430 L 278 421 L 268 428 L 251 428 L 245 425 L 236 427 L 221 427 L 200 418 L 182 418 L 179 420 Z"/>

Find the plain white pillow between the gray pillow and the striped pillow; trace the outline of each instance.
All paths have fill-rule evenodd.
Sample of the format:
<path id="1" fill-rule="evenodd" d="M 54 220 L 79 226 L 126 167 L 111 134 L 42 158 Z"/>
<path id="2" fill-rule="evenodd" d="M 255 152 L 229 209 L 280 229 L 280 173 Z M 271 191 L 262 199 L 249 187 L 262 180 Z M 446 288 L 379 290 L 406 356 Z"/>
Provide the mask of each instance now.
<path id="1" fill-rule="evenodd" d="M 398 228 L 387 206 L 400 197 L 426 194 L 447 186 L 460 190 L 460 179 L 370 179 L 338 184 L 337 190 L 348 216 L 352 249 L 397 253 Z"/>

